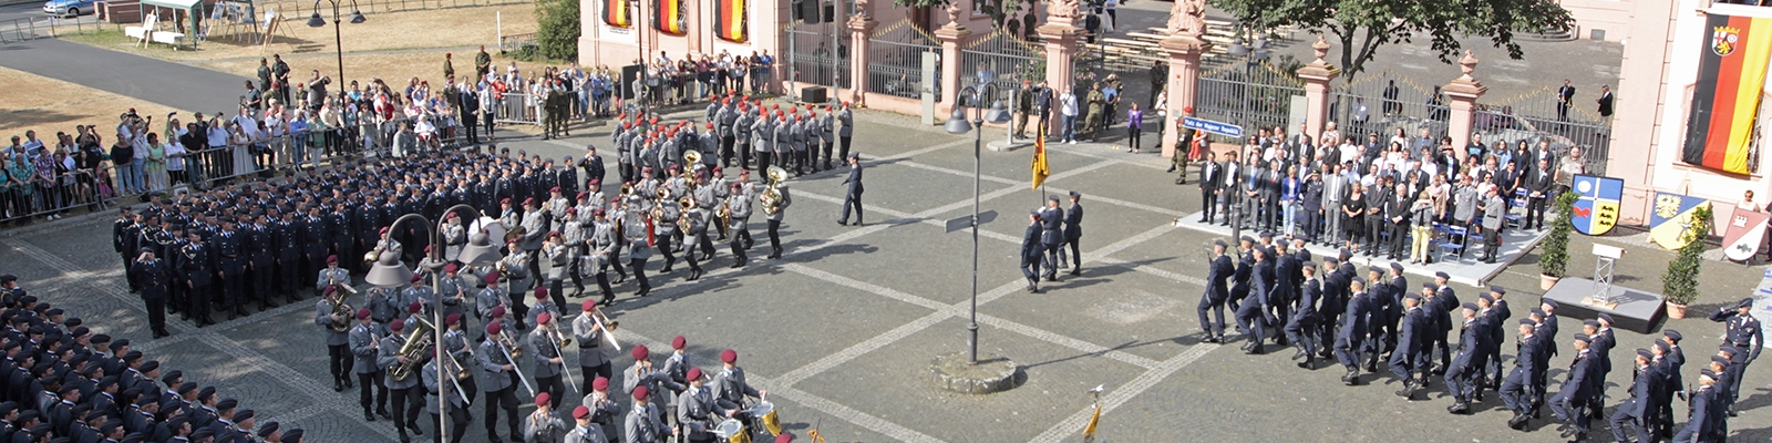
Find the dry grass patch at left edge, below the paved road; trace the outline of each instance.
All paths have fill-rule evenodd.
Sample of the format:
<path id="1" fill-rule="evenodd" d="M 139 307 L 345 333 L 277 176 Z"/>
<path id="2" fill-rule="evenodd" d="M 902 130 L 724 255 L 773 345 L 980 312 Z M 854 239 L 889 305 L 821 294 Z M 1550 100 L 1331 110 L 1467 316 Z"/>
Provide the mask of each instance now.
<path id="1" fill-rule="evenodd" d="M 37 138 L 53 140 L 57 131 L 74 133 L 74 124 L 117 126 L 117 113 L 129 108 L 135 108 L 142 115 L 161 117 L 174 112 L 174 108 L 158 103 L 7 67 L 0 67 L 0 85 L 5 85 L 9 90 L 32 92 L 11 94 L 5 106 L 0 108 L 0 135 L 4 136 L 25 136 L 25 131 L 37 131 Z M 112 129 L 105 129 L 105 135 L 110 133 Z"/>

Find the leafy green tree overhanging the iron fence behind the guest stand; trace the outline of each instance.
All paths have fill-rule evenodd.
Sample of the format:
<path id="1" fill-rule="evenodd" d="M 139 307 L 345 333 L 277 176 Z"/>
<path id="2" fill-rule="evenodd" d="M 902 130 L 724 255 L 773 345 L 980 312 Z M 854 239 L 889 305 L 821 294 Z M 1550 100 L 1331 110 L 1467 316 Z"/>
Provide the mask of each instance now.
<path id="1" fill-rule="evenodd" d="M 1212 5 L 1256 27 L 1299 27 L 1311 34 L 1329 34 L 1341 51 L 1341 78 L 1348 85 L 1379 48 L 1411 43 L 1418 35 L 1432 39 L 1439 60 L 1451 64 L 1462 50 L 1460 35 L 1480 35 L 1508 58 L 1526 53 L 1513 41 L 1515 32 L 1563 30 L 1575 21 L 1556 0 L 1210 0 Z"/>

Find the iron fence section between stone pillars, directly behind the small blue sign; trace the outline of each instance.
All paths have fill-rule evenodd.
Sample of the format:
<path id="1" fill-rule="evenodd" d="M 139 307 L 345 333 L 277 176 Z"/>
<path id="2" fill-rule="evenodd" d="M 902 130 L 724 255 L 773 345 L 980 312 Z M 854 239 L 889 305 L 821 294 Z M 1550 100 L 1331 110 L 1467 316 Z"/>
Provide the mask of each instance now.
<path id="1" fill-rule="evenodd" d="M 1258 128 L 1285 126 L 1294 96 L 1304 96 L 1304 82 L 1274 66 L 1232 64 L 1200 76 L 1194 117 L 1242 126 L 1249 136 Z"/>

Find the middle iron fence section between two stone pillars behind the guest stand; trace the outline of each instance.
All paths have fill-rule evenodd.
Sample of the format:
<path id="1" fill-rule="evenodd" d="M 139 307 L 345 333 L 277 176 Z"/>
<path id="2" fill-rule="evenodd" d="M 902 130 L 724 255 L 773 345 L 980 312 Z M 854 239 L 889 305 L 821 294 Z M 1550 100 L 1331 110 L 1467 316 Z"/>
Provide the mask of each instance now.
<path id="1" fill-rule="evenodd" d="M 1446 135 L 1451 108 L 1434 92 L 1389 71 L 1364 74 L 1329 92 L 1329 120 L 1338 133 L 1357 140 L 1373 133 L 1379 140 L 1391 140 L 1398 129 L 1409 140 L 1423 138 L 1421 129 L 1428 131 L 1426 140 L 1439 140 Z"/>

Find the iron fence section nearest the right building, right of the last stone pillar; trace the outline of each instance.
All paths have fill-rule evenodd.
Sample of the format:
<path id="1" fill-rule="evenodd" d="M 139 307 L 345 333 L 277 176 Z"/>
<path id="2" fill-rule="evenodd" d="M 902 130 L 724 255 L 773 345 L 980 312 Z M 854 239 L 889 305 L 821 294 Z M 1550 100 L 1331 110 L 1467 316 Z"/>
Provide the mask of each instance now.
<path id="1" fill-rule="evenodd" d="M 1566 156 L 1570 147 L 1581 147 L 1586 170 L 1595 175 L 1605 175 L 1605 163 L 1611 158 L 1613 120 L 1593 110 L 1561 103 L 1550 87 L 1478 103 L 1473 129 L 1483 133 L 1490 144 L 1549 142 L 1559 158 Z"/>

